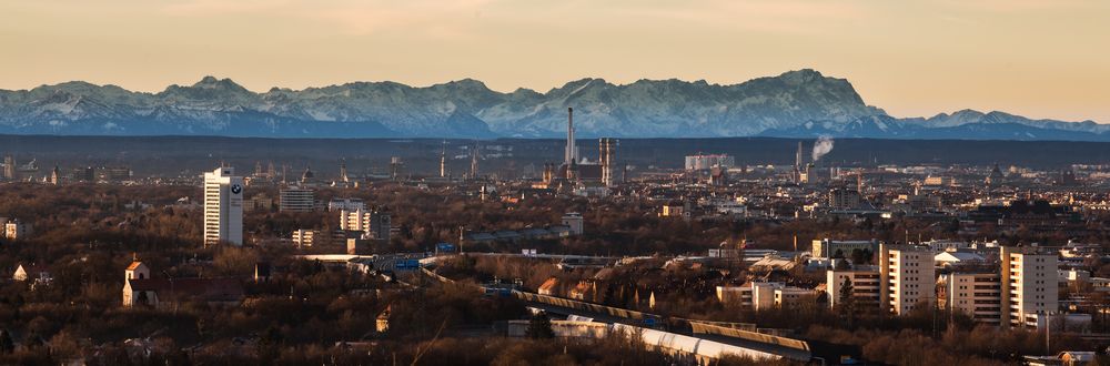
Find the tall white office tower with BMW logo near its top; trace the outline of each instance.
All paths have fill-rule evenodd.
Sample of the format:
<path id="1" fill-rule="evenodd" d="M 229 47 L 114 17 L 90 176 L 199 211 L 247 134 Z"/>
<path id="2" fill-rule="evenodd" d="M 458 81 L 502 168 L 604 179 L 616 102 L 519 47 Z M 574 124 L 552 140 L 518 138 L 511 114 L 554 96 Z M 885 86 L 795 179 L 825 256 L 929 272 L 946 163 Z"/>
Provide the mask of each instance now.
<path id="1" fill-rule="evenodd" d="M 243 245 L 243 177 L 235 169 L 204 173 L 204 245 Z"/>

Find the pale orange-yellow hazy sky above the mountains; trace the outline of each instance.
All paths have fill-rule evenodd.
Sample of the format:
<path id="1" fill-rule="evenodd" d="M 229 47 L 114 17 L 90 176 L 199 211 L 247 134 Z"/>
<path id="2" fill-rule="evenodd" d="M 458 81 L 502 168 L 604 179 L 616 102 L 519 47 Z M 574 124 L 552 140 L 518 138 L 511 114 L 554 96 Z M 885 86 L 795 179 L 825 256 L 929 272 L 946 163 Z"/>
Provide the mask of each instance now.
<path id="1" fill-rule="evenodd" d="M 737 83 L 813 68 L 896 116 L 1110 123 L 1107 0 L 0 0 L 0 89 L 474 78 Z"/>

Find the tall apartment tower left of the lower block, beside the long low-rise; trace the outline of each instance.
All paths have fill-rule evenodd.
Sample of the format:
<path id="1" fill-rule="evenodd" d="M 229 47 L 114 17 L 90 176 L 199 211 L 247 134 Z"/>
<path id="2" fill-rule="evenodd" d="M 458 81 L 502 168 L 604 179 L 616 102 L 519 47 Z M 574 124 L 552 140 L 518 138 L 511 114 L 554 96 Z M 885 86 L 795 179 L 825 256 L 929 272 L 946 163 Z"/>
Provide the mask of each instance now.
<path id="1" fill-rule="evenodd" d="M 895 315 L 905 315 L 937 298 L 934 254 L 928 248 L 906 245 L 879 246 L 879 298 Z"/>

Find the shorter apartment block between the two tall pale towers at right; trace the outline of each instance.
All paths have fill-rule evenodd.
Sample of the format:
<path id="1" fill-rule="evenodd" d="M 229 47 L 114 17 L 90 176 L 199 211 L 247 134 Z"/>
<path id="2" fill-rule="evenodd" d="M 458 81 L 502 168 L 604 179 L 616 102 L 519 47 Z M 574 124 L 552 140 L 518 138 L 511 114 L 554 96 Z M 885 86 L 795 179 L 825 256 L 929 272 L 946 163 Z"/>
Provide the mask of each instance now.
<path id="1" fill-rule="evenodd" d="M 997 272 L 951 273 L 945 281 L 945 307 L 976 323 L 998 325 L 1002 318 L 1002 283 Z"/>

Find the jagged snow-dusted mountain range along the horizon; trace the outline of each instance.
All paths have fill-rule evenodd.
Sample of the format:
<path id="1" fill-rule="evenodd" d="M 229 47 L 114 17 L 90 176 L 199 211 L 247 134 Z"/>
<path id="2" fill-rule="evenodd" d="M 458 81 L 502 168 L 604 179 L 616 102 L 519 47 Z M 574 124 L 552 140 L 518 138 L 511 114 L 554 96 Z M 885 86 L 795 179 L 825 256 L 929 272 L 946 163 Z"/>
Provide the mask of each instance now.
<path id="1" fill-rule="evenodd" d="M 541 93 L 464 79 L 424 88 L 352 82 L 252 92 L 205 77 L 158 93 L 81 81 L 0 90 L 0 133 L 264 138 L 857 136 L 1110 141 L 1110 125 L 963 110 L 897 119 L 851 83 L 804 69 L 738 84 L 582 79 Z"/>

